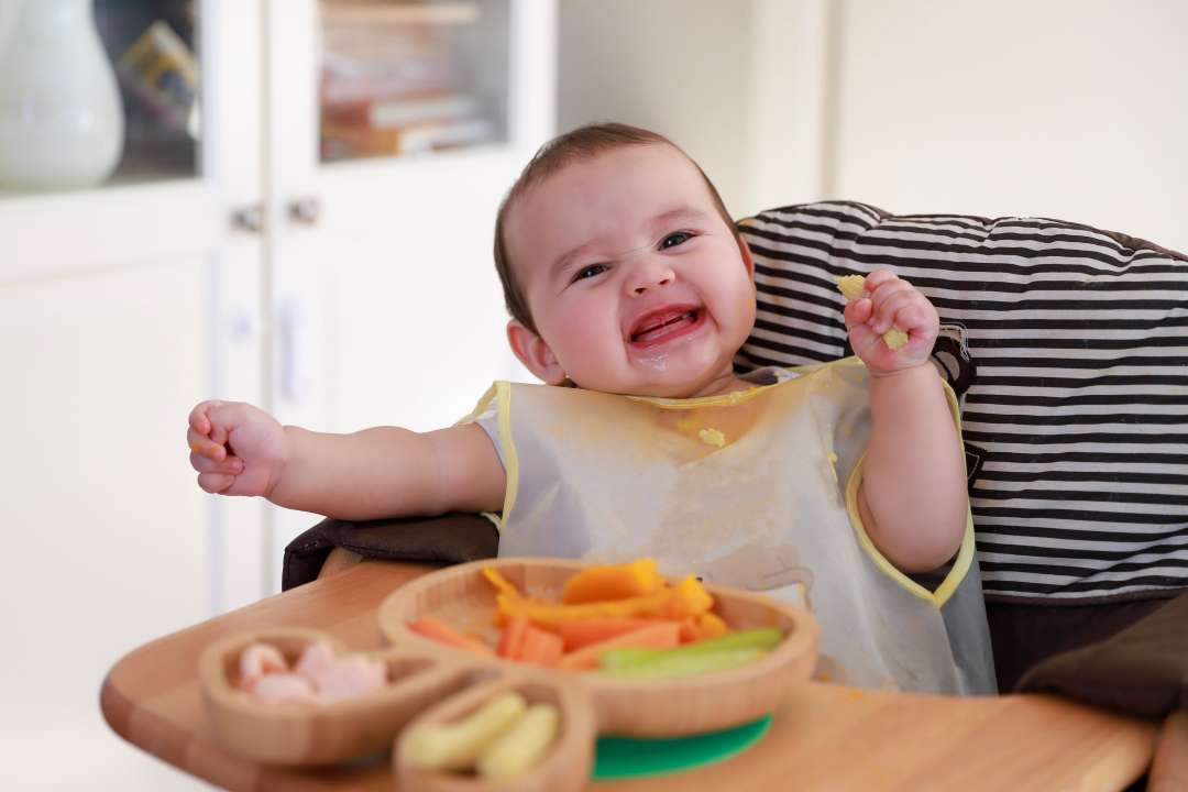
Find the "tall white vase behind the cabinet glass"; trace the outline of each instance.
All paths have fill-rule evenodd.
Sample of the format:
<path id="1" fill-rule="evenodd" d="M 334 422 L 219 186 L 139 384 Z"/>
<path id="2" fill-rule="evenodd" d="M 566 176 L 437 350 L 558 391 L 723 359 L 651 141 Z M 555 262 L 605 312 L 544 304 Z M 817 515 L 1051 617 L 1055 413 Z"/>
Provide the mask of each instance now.
<path id="1" fill-rule="evenodd" d="M 122 148 L 91 0 L 0 0 L 0 185 L 91 186 Z"/>

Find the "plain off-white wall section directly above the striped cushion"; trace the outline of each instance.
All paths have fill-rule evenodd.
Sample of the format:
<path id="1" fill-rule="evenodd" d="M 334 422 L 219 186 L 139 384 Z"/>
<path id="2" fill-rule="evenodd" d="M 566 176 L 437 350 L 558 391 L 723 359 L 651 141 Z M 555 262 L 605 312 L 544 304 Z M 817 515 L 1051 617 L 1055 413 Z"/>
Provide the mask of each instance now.
<path id="1" fill-rule="evenodd" d="M 846 0 L 836 197 L 1188 251 L 1188 2 Z"/>

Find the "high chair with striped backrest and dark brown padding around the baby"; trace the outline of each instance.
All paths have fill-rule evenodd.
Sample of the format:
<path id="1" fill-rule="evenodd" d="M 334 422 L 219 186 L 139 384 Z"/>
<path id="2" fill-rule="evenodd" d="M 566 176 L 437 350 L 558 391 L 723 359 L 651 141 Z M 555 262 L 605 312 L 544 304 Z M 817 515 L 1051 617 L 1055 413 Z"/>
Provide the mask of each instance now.
<path id="1" fill-rule="evenodd" d="M 1000 690 L 1159 718 L 1188 705 L 1188 258 L 1079 223 L 853 202 L 738 229 L 758 290 L 739 370 L 852 354 L 845 274 L 890 267 L 936 306 Z M 328 519 L 286 549 L 283 587 L 359 557 L 455 563 L 498 544 L 474 514 Z M 1161 756 L 1183 772 L 1176 717 Z"/>

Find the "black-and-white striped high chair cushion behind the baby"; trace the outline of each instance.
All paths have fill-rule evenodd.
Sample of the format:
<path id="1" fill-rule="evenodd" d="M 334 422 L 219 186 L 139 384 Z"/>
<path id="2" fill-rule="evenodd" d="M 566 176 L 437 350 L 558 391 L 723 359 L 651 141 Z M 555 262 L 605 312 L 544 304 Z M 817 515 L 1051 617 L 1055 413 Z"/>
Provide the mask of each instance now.
<path id="1" fill-rule="evenodd" d="M 740 370 L 851 354 L 840 275 L 890 267 L 936 305 L 987 598 L 1188 588 L 1188 259 L 1055 220 L 849 202 L 739 229 L 759 292 Z"/>

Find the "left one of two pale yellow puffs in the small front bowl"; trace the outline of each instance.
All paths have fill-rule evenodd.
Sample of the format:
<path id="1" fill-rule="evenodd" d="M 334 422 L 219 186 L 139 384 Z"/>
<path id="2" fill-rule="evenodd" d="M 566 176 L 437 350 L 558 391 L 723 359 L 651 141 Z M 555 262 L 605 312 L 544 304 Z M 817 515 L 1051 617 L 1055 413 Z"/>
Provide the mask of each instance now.
<path id="1" fill-rule="evenodd" d="M 500 734 L 527 709 L 514 691 L 494 696 L 470 716 L 454 723 L 426 723 L 405 735 L 405 758 L 426 769 L 470 769 Z"/>

